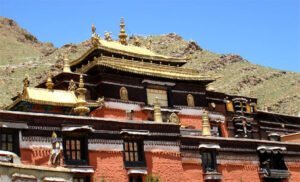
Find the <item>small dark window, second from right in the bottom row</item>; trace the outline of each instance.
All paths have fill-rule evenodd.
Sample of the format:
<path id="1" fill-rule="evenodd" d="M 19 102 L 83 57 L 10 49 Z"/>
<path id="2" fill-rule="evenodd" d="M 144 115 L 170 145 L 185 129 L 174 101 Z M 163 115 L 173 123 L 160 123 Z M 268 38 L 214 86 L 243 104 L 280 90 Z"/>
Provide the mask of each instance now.
<path id="1" fill-rule="evenodd" d="M 202 167 L 205 173 L 207 172 L 216 172 L 216 151 L 202 151 Z"/>

